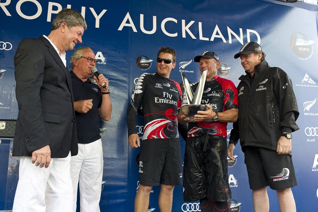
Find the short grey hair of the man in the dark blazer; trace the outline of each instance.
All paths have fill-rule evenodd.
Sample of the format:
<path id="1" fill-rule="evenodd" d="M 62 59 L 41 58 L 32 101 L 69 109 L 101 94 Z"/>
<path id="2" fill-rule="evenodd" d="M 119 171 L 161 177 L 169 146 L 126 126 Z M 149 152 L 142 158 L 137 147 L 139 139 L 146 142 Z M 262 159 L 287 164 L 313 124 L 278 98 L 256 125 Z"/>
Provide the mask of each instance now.
<path id="1" fill-rule="evenodd" d="M 68 28 L 73 26 L 82 26 L 84 30 L 87 29 L 87 24 L 83 16 L 73 9 L 63 8 L 59 11 L 53 19 L 51 30 L 58 29 L 63 22 L 67 24 Z"/>

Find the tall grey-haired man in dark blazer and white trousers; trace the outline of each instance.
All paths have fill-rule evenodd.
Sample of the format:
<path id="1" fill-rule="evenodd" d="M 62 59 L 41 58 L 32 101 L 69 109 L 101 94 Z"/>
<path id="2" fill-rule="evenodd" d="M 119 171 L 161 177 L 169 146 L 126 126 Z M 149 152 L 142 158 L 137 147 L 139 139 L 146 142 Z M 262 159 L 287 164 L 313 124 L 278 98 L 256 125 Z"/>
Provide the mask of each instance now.
<path id="1" fill-rule="evenodd" d="M 13 211 L 72 211 L 70 159 L 78 147 L 65 51 L 82 42 L 86 28 L 78 11 L 63 9 L 47 37 L 24 39 L 17 48 L 13 156 L 21 157 Z"/>

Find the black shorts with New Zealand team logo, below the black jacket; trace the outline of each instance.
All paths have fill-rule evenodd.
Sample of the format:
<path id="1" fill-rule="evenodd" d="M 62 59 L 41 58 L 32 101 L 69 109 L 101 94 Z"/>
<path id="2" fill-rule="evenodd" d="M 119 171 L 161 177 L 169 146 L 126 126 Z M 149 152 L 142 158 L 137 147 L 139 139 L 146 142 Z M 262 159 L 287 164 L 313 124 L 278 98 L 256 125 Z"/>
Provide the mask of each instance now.
<path id="1" fill-rule="evenodd" d="M 248 181 L 251 189 L 269 186 L 281 190 L 297 186 L 292 157 L 276 151 L 246 147 L 244 150 Z"/>

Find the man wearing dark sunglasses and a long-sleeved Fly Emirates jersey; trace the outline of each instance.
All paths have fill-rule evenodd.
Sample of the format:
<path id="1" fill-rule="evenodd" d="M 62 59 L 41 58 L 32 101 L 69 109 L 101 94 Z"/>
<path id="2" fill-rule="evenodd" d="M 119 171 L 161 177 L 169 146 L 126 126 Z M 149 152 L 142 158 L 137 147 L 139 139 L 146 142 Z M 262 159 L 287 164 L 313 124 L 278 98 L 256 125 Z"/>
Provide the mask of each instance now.
<path id="1" fill-rule="evenodd" d="M 146 212 L 152 186 L 161 185 L 160 211 L 172 210 L 175 185 L 182 184 L 182 159 L 177 130 L 181 89 L 169 79 L 176 66 L 176 52 L 161 47 L 157 55 L 157 72 L 143 73 L 135 86 L 127 109 L 128 144 L 141 146 L 139 156 L 139 188 L 135 212 Z M 142 144 L 136 133 L 137 113 L 142 107 L 144 131 Z"/>

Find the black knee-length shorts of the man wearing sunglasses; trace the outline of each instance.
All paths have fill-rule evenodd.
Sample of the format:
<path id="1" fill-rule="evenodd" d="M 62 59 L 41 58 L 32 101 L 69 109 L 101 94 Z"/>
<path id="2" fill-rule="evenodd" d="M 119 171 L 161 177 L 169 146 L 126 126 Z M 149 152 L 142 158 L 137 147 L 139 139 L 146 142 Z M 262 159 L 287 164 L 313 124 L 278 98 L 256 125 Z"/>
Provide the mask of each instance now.
<path id="1" fill-rule="evenodd" d="M 139 183 L 145 186 L 181 185 L 182 159 L 179 138 L 142 141 Z"/>

